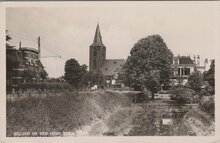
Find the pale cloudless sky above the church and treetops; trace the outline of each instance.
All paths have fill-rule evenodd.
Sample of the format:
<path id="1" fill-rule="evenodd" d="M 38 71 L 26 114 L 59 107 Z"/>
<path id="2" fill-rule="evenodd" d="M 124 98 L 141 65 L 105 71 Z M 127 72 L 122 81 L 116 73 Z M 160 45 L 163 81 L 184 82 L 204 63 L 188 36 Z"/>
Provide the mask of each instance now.
<path id="1" fill-rule="evenodd" d="M 159 34 L 175 56 L 219 53 L 219 7 L 208 2 L 78 2 L 58 7 L 10 7 L 6 29 L 11 45 L 37 49 L 49 77 L 64 75 L 66 60 L 89 64 L 97 22 L 107 59 L 126 59 L 138 40 Z M 59 57 L 51 57 L 60 55 Z"/>

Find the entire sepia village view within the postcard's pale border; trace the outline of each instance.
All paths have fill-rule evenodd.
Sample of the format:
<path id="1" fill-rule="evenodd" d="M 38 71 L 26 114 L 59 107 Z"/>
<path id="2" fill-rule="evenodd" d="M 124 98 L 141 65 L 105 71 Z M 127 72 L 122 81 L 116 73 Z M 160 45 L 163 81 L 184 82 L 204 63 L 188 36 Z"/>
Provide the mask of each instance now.
<path id="1" fill-rule="evenodd" d="M 215 136 L 219 10 L 6 7 L 6 137 Z"/>

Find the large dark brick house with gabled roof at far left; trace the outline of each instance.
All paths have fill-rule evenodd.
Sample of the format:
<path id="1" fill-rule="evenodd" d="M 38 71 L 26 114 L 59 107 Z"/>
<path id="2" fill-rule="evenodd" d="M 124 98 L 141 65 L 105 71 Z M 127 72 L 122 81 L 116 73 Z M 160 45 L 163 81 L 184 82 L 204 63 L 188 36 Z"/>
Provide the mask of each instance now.
<path id="1" fill-rule="evenodd" d="M 38 82 L 46 74 L 40 59 L 40 47 L 6 48 L 6 83 L 17 87 L 25 82 Z"/>

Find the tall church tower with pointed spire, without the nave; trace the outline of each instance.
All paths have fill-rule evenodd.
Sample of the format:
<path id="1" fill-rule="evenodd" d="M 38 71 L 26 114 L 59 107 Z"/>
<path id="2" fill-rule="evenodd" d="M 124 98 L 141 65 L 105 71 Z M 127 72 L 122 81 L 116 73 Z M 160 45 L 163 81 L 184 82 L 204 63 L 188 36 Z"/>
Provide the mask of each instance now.
<path id="1" fill-rule="evenodd" d="M 99 72 L 103 62 L 106 60 L 106 47 L 102 43 L 102 36 L 97 24 L 95 37 L 89 49 L 89 71 Z"/>

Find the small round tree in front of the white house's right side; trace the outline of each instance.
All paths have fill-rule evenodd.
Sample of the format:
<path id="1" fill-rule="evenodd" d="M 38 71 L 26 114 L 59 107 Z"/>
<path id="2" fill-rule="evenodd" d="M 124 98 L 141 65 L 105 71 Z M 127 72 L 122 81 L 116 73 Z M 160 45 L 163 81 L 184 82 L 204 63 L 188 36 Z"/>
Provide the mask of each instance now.
<path id="1" fill-rule="evenodd" d="M 203 76 L 201 72 L 195 71 L 188 77 L 188 84 L 195 92 L 199 92 L 203 85 Z"/>

